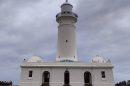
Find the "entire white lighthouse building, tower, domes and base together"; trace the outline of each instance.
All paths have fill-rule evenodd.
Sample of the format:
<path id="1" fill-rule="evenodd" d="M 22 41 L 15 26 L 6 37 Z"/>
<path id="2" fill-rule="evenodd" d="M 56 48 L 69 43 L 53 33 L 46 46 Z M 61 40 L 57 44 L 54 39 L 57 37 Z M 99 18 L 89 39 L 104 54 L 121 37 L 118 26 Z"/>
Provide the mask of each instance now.
<path id="1" fill-rule="evenodd" d="M 96 56 L 90 63 L 78 61 L 75 23 L 77 14 L 66 0 L 56 15 L 58 48 L 56 62 L 33 56 L 21 65 L 20 86 L 114 86 L 110 60 Z"/>

